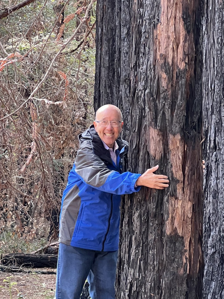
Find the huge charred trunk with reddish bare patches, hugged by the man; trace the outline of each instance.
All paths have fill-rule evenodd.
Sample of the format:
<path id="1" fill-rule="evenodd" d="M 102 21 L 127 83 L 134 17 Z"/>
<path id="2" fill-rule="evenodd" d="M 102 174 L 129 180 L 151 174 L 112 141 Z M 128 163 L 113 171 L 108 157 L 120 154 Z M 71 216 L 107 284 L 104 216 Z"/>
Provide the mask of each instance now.
<path id="1" fill-rule="evenodd" d="M 114 13 L 108 16 L 107 5 L 98 1 L 95 109 L 105 103 L 121 108 L 130 171 L 143 173 L 159 164 L 158 173 L 170 179 L 166 190 L 142 188 L 123 201 L 117 298 L 202 298 L 196 25 L 201 8 L 197 1 L 116 0 L 115 19 Z M 104 64 L 111 61 L 104 50 L 109 43 L 103 35 L 108 20 L 116 24 L 106 33 L 116 36 L 113 45 L 110 40 L 115 61 L 109 69 Z M 108 90 L 112 97 L 107 97 Z"/>

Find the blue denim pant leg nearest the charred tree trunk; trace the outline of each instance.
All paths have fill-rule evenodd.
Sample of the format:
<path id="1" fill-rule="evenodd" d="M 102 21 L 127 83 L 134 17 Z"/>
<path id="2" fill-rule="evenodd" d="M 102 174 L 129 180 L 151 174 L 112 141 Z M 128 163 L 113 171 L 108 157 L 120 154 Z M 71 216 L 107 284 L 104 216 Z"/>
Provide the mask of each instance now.
<path id="1" fill-rule="evenodd" d="M 118 251 L 96 251 L 88 275 L 92 299 L 115 299 L 115 279 Z"/>

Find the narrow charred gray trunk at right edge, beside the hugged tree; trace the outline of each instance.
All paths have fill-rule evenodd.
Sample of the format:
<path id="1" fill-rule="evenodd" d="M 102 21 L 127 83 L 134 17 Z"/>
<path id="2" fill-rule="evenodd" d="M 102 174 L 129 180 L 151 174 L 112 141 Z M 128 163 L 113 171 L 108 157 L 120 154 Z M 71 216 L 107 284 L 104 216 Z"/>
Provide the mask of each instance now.
<path id="1" fill-rule="evenodd" d="M 224 3 L 205 1 L 203 119 L 205 157 L 204 298 L 224 298 Z"/>

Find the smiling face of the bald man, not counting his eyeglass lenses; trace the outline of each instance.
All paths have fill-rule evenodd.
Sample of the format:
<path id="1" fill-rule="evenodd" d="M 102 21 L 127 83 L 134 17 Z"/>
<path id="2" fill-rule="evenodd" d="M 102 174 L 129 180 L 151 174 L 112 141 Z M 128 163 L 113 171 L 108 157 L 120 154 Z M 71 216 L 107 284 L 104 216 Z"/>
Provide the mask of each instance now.
<path id="1" fill-rule="evenodd" d="M 120 135 L 123 121 L 118 109 L 115 108 L 105 108 L 97 113 L 96 120 L 108 120 L 108 126 L 103 126 L 96 121 L 93 122 L 96 132 L 98 133 L 100 139 L 105 142 L 108 147 L 113 148 L 114 141 L 117 140 Z M 118 127 L 111 126 L 110 121 L 119 120 L 122 121 Z"/>

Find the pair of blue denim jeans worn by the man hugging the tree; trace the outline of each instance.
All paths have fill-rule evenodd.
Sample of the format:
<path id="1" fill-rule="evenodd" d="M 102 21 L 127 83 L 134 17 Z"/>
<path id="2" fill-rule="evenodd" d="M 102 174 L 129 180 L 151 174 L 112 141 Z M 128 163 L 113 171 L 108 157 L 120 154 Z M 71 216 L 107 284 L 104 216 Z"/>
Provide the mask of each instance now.
<path id="1" fill-rule="evenodd" d="M 92 299 L 115 299 L 118 251 L 95 251 L 59 244 L 56 299 L 80 299 L 86 278 Z"/>

